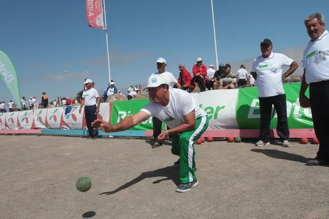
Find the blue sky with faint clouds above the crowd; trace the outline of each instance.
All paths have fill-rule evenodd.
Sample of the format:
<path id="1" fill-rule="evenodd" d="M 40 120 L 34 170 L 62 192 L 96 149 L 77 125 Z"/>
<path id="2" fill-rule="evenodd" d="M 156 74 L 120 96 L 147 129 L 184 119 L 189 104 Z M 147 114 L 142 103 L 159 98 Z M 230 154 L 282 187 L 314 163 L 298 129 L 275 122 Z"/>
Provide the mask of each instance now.
<path id="1" fill-rule="evenodd" d="M 179 63 L 191 71 L 197 57 L 216 64 L 210 0 L 106 0 L 106 12 L 111 78 L 124 93 L 130 84 L 146 83 L 158 57 L 176 77 Z M 315 12 L 329 16 L 329 2 L 214 0 L 219 62 L 259 55 L 264 38 L 274 51 L 306 45 L 303 21 Z M 0 50 L 16 67 L 22 96 L 69 96 L 69 84 L 74 96 L 85 78 L 100 94 L 107 86 L 105 33 L 88 27 L 85 1 L 5 0 L 0 29 Z M 12 99 L 4 82 L 0 93 Z"/>

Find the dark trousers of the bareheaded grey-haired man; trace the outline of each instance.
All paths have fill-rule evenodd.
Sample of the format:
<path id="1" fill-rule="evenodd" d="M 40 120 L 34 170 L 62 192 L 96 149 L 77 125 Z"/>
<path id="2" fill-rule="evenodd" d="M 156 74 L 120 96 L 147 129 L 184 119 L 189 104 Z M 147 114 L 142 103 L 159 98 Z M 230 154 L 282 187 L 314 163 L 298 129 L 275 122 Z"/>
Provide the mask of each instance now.
<path id="1" fill-rule="evenodd" d="M 329 162 L 329 81 L 311 83 L 310 100 L 314 131 L 320 143 L 317 158 Z"/>

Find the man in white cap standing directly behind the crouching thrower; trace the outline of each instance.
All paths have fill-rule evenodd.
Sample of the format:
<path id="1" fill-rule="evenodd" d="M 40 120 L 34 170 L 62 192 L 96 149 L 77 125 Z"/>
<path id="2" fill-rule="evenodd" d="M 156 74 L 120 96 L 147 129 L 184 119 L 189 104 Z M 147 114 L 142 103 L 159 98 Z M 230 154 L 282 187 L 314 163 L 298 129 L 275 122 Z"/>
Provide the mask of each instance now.
<path id="1" fill-rule="evenodd" d="M 174 85 L 176 85 L 178 89 L 181 89 L 182 86 L 178 83 L 174 75 L 171 74 L 171 72 L 166 71 L 166 66 L 167 66 L 166 59 L 158 58 L 158 60 L 156 60 L 156 67 L 158 71 L 152 74 L 150 77 L 155 75 L 161 75 L 164 78 L 164 80 L 166 80 L 169 88 L 173 88 Z M 152 145 L 152 148 L 154 149 L 162 146 L 162 143 L 157 141 L 157 137 L 161 133 L 162 122 L 155 117 L 152 117 L 152 121 L 153 121 L 153 138 L 156 141 L 155 144 Z"/>

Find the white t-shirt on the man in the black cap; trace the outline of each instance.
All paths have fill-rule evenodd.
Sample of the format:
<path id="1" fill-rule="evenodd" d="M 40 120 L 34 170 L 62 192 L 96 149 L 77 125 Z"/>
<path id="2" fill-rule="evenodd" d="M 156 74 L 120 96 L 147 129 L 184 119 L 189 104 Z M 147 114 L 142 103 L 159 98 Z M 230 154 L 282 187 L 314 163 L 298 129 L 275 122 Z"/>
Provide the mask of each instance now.
<path id="1" fill-rule="evenodd" d="M 282 68 L 290 66 L 293 60 L 281 53 L 271 53 L 268 58 L 258 56 L 252 62 L 251 70 L 257 72 L 259 97 L 284 94 L 282 86 Z"/>

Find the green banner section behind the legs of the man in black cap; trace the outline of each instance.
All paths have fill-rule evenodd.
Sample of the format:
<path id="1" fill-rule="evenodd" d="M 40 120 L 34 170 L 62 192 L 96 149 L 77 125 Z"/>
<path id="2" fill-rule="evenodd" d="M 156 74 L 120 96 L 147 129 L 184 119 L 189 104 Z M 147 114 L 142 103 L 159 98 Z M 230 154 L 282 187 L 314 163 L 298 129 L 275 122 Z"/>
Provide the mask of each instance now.
<path id="1" fill-rule="evenodd" d="M 287 98 L 287 117 L 290 129 L 313 128 L 311 108 L 303 108 L 299 104 L 301 83 L 284 84 L 283 89 Z M 309 90 L 306 91 L 309 96 Z M 240 129 L 259 129 L 259 100 L 257 87 L 239 90 L 236 107 L 236 118 Z M 277 115 L 272 106 L 271 129 L 277 125 Z"/>

